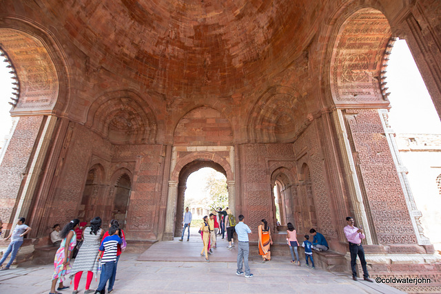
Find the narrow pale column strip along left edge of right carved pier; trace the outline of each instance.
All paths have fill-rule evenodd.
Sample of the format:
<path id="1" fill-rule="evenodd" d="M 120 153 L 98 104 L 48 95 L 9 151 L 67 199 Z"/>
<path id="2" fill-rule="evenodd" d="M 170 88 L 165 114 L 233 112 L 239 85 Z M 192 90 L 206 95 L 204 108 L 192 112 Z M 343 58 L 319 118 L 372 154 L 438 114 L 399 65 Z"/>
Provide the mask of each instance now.
<path id="1" fill-rule="evenodd" d="M 358 181 L 356 165 L 353 160 L 351 145 L 349 143 L 347 129 L 345 127 L 345 119 L 343 118 L 342 110 L 336 109 L 333 112 L 333 118 L 337 129 L 338 143 L 341 149 L 342 160 L 345 168 L 345 175 L 347 177 L 349 195 L 355 213 L 353 217 L 356 218 L 358 222 L 358 226 L 361 225 L 363 229 L 365 229 L 367 244 L 373 244 L 371 237 L 371 229 L 369 226 L 369 222 L 367 220 L 365 203 L 362 197 L 360 182 Z"/>

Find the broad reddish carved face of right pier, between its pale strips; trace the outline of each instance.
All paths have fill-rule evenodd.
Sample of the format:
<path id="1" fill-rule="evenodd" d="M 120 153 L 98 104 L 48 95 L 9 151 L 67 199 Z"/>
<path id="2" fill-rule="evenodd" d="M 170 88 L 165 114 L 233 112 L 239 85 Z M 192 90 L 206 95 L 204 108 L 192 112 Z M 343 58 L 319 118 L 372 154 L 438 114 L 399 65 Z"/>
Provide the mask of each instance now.
<path id="1" fill-rule="evenodd" d="M 377 109 L 346 112 L 351 150 L 365 207 L 380 244 L 416 244 L 417 239 L 391 149 Z M 369 210 L 368 210 L 369 209 Z"/>

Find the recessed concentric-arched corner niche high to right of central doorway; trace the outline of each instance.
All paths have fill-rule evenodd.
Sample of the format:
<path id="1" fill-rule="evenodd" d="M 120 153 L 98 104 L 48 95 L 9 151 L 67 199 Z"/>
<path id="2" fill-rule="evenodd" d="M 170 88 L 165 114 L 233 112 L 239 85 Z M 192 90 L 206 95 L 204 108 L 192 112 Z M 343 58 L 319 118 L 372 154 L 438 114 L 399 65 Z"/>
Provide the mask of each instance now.
<path id="1" fill-rule="evenodd" d="M 250 142 L 287 143 L 296 137 L 300 94 L 291 87 L 269 87 L 256 101 L 247 120 Z"/>

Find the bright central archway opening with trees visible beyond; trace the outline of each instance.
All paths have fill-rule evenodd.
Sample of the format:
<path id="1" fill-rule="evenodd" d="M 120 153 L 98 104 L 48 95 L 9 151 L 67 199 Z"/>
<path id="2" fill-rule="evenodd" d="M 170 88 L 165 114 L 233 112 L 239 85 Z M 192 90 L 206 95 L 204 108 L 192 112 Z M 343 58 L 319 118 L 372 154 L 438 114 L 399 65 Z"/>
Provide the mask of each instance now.
<path id="1" fill-rule="evenodd" d="M 203 216 L 228 206 L 226 176 L 225 169 L 212 160 L 194 160 L 183 167 L 179 174 L 174 237 L 182 236 L 186 207 L 192 213 L 190 232 L 197 233 Z M 219 221 L 218 213 L 215 214 Z"/>

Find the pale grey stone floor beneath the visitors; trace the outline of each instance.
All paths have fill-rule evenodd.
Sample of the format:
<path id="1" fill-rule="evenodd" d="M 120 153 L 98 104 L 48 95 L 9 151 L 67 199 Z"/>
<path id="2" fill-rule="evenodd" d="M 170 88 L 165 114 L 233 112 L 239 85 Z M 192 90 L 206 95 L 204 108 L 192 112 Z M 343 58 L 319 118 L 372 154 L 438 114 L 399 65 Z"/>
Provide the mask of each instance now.
<path id="1" fill-rule="evenodd" d="M 249 265 L 254 277 L 245 278 L 236 275 L 237 251 L 229 251 L 226 244 L 218 241 L 210 262 L 201 258 L 201 239 L 196 235 L 190 242 L 179 242 L 178 238 L 159 242 L 141 255 L 123 253 L 114 293 L 402 293 L 375 282 L 355 282 L 344 273 L 313 270 L 305 262 L 296 266 L 284 257 L 263 264 L 258 255 L 252 255 Z M 52 265 L 0 271 L 0 293 L 49 293 L 52 271 Z M 94 279 L 91 288 L 97 285 Z M 84 286 L 85 276 L 80 293 Z M 73 284 L 63 293 L 72 290 Z"/>

